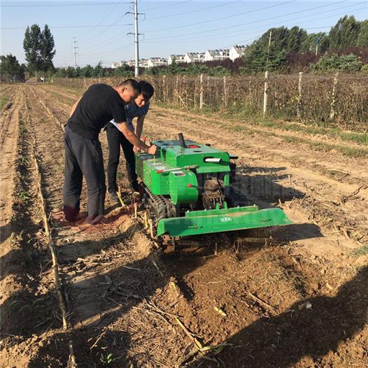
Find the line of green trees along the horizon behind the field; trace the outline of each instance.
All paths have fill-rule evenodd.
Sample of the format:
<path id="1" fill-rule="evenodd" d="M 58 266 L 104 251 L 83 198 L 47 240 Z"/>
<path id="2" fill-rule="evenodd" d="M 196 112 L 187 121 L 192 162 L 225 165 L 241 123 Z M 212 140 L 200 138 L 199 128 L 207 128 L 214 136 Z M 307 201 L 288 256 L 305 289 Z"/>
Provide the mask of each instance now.
<path id="1" fill-rule="evenodd" d="M 23 48 L 27 65 L 19 64 L 13 55 L 1 55 L 1 75 L 22 74 L 29 71 L 58 77 L 130 77 L 134 68 L 122 65 L 111 69 L 101 65 L 86 65 L 74 68 L 55 68 L 55 41 L 47 24 L 43 30 L 38 24 L 27 27 L 24 33 Z M 232 62 L 229 59 L 215 62 L 177 64 L 141 68 L 141 74 L 163 75 L 182 74 L 208 76 L 228 76 L 230 74 L 259 73 L 276 71 L 365 71 L 368 72 L 368 20 L 362 22 L 353 16 L 341 17 L 328 33 L 308 34 L 300 27 L 275 27 L 264 32 L 248 45 L 243 57 Z"/>

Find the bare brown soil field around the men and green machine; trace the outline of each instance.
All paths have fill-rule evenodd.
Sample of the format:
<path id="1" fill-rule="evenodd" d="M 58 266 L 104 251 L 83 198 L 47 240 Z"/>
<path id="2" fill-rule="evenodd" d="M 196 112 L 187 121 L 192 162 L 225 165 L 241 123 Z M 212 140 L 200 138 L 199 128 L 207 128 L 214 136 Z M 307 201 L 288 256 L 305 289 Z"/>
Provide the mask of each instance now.
<path id="1" fill-rule="evenodd" d="M 83 91 L 0 92 L 0 367 L 368 367 L 367 145 L 153 104 L 146 136 L 238 155 L 239 189 L 294 222 L 167 253 L 143 208 L 107 198 L 106 224 L 63 221 L 63 126 Z M 131 204 L 124 162 L 119 181 Z"/>

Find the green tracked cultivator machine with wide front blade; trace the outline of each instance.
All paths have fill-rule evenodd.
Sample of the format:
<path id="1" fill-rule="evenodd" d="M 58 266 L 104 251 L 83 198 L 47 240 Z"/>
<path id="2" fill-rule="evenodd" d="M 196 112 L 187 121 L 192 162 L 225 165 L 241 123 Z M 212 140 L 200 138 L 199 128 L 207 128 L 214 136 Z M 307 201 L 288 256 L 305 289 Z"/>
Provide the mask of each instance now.
<path id="1" fill-rule="evenodd" d="M 288 225 L 281 208 L 259 209 L 234 190 L 237 157 L 179 134 L 154 141 L 157 153 L 136 155 L 141 197 L 157 236 L 188 236 Z"/>

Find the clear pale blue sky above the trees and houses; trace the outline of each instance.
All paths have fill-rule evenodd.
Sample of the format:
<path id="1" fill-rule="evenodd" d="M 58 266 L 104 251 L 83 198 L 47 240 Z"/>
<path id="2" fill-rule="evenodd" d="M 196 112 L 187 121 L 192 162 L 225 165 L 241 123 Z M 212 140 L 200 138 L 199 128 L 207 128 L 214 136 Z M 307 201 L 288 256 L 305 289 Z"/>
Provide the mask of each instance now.
<path id="1" fill-rule="evenodd" d="M 25 62 L 24 30 L 48 24 L 55 66 L 111 66 L 134 59 L 134 6 L 127 0 L 1 1 L 1 55 Z M 340 17 L 368 19 L 368 1 L 138 0 L 141 58 L 248 45 L 271 27 L 329 31 Z M 74 43 L 75 41 L 75 43 Z"/>

